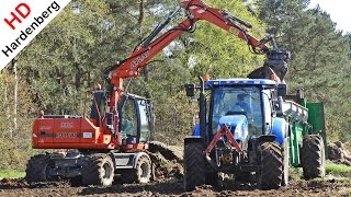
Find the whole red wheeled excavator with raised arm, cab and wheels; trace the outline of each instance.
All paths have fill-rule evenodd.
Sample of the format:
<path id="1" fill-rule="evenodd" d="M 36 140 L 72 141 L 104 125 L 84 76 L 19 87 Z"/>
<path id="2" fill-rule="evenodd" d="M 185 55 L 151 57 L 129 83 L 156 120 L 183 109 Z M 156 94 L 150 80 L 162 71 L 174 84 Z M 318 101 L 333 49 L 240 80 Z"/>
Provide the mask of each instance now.
<path id="1" fill-rule="evenodd" d="M 179 25 L 158 34 L 184 11 L 186 19 Z M 248 43 L 253 51 L 279 54 L 265 44 L 272 36 L 257 39 L 247 28 L 251 24 L 230 13 L 211 8 L 201 0 L 180 3 L 151 34 L 146 37 L 123 61 L 105 70 L 109 84 L 105 91 L 92 94 L 90 117 L 71 115 L 41 115 L 33 125 L 34 149 L 68 149 L 70 151 L 37 154 L 30 159 L 26 169 L 29 182 L 68 178 L 82 185 L 111 185 L 114 175 L 125 182 L 147 183 L 151 179 L 151 160 L 147 150 L 154 127 L 151 101 L 124 92 L 123 79 L 139 74 L 138 69 L 160 53 L 184 32 L 194 30 L 196 21 L 205 20 L 235 34 Z M 269 70 L 269 72 L 264 70 Z M 265 65 L 254 72 L 284 74 L 284 65 Z"/>

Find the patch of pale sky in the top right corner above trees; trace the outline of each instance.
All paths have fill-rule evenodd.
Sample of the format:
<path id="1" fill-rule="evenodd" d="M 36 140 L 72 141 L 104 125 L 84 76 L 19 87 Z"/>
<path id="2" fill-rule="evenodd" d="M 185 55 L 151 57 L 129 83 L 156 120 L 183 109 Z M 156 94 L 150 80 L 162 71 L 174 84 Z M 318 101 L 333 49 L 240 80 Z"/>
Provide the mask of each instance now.
<path id="1" fill-rule="evenodd" d="M 330 14 L 331 20 L 337 23 L 337 30 L 351 32 L 351 0 L 310 0 L 309 7 L 317 4 Z"/>

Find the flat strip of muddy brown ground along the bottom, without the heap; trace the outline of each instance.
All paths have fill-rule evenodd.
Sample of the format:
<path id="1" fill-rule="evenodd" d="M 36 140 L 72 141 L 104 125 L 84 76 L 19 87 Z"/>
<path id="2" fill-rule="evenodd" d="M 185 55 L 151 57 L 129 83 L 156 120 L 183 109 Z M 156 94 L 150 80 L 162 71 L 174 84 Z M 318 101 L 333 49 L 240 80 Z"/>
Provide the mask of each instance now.
<path id="1" fill-rule="evenodd" d="M 152 184 L 114 184 L 111 187 L 71 187 L 68 182 L 29 184 L 23 179 L 2 179 L 0 196 L 351 196 L 351 182 L 294 181 L 278 190 L 259 190 L 254 186 L 229 185 L 220 189 L 201 186 L 194 192 L 183 192 L 181 179 Z"/>

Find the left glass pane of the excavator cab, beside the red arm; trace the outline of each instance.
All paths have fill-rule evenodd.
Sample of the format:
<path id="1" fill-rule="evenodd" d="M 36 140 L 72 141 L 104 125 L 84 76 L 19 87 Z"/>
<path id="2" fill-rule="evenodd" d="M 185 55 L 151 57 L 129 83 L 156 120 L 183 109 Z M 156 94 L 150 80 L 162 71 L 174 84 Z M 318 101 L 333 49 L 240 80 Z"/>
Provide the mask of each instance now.
<path id="1" fill-rule="evenodd" d="M 134 100 L 126 99 L 123 102 L 121 116 L 121 132 L 123 137 L 137 137 L 138 119 Z"/>

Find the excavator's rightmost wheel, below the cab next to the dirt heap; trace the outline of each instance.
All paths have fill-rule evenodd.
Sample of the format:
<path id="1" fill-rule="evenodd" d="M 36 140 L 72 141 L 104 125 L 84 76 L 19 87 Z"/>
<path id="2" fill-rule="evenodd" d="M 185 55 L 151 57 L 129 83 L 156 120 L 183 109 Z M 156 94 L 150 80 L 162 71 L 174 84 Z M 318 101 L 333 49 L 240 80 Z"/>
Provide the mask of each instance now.
<path id="1" fill-rule="evenodd" d="M 151 161 L 147 155 L 141 155 L 136 169 L 123 170 L 121 172 L 124 183 L 149 183 L 151 179 Z"/>

